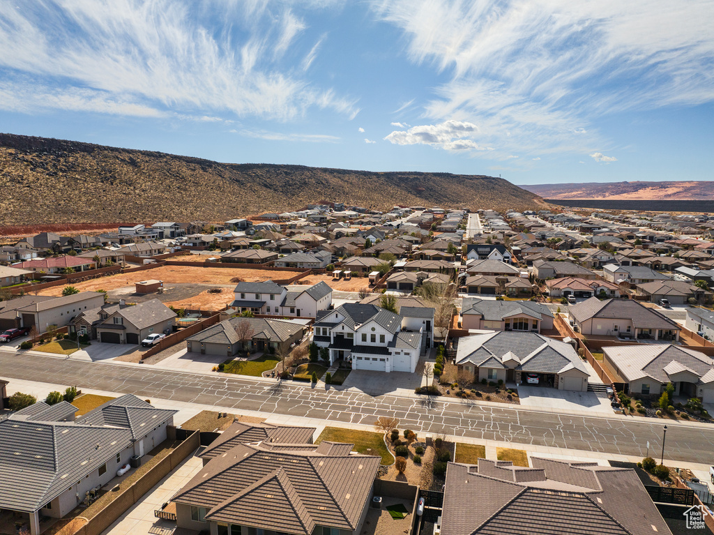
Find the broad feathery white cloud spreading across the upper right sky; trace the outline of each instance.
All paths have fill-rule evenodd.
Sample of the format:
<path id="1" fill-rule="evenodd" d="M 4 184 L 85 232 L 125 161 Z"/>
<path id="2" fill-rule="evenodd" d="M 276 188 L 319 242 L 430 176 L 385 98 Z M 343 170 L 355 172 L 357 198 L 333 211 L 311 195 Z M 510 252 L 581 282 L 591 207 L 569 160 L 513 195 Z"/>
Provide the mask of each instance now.
<path id="1" fill-rule="evenodd" d="M 401 29 L 413 63 L 446 79 L 426 104 L 426 117 L 478 124 L 501 157 L 516 149 L 583 152 L 602 141 L 589 125 L 604 113 L 714 100 L 709 0 L 371 0 L 371 6 Z"/>

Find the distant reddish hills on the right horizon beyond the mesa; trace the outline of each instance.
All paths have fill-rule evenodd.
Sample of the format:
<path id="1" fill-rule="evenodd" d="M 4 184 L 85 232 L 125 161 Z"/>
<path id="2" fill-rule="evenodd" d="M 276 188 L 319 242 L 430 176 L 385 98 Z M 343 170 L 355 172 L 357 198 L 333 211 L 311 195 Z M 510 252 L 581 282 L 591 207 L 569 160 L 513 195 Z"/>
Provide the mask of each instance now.
<path id="1" fill-rule="evenodd" d="M 623 201 L 706 201 L 714 199 L 714 181 L 584 182 L 520 186 L 543 199 Z"/>

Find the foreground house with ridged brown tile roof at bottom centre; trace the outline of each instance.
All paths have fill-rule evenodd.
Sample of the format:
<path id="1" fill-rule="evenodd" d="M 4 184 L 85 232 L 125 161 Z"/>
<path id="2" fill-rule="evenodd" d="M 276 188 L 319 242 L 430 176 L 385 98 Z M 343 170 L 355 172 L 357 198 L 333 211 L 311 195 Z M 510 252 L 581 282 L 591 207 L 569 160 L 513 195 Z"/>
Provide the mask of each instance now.
<path id="1" fill-rule="evenodd" d="M 352 444 L 238 444 L 178 491 L 176 525 L 226 533 L 361 534 L 379 457 Z M 218 524 L 220 523 L 220 524 Z"/>

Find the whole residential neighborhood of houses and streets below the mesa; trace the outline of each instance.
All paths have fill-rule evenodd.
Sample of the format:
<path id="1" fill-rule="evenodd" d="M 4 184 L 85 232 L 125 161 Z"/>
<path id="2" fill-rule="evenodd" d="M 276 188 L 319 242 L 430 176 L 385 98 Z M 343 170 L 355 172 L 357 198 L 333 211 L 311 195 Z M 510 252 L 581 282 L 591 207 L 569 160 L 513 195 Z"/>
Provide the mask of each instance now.
<path id="1" fill-rule="evenodd" d="M 228 215 L 3 245 L 0 532 L 677 533 L 709 510 L 714 218 Z"/>

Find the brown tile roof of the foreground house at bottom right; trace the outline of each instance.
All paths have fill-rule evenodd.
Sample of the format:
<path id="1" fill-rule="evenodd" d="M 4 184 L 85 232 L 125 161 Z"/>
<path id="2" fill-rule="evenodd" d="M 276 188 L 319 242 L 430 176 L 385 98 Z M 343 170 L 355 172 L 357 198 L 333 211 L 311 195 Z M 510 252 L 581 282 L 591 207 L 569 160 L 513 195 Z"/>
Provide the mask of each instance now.
<path id="1" fill-rule="evenodd" d="M 441 535 L 672 535 L 634 470 L 531 463 L 449 463 Z"/>

